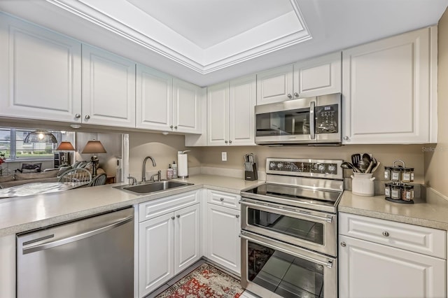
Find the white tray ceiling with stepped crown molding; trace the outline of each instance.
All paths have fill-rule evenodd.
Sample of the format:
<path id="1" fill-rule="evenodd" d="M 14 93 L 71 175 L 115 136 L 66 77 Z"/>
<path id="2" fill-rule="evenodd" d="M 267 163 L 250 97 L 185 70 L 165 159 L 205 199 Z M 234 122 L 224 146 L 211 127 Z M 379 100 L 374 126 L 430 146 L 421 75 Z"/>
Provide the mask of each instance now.
<path id="1" fill-rule="evenodd" d="M 1 0 L 0 10 L 197 85 L 437 24 L 448 0 Z"/>

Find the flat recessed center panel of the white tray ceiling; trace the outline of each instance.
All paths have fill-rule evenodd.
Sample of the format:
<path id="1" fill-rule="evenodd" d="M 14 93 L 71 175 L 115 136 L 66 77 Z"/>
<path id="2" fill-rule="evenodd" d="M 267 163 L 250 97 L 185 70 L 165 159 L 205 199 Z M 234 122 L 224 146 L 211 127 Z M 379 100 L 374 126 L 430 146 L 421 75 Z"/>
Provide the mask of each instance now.
<path id="1" fill-rule="evenodd" d="M 127 0 L 202 49 L 293 11 L 289 0 Z"/>

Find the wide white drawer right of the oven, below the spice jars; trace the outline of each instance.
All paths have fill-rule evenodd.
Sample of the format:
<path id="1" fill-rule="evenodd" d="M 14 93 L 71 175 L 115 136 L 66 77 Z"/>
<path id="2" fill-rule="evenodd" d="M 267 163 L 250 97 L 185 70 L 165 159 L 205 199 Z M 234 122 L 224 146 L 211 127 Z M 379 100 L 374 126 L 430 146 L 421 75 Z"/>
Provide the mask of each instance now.
<path id="1" fill-rule="evenodd" d="M 339 213 L 339 234 L 446 258 L 446 232 L 441 229 Z"/>

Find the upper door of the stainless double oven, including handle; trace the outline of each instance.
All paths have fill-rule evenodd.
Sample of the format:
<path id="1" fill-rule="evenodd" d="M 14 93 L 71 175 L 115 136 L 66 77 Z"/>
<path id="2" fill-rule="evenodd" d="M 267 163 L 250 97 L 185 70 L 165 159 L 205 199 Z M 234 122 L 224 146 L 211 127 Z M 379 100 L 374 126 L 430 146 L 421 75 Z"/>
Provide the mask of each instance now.
<path id="1" fill-rule="evenodd" d="M 241 199 L 241 229 L 336 256 L 336 214 Z"/>

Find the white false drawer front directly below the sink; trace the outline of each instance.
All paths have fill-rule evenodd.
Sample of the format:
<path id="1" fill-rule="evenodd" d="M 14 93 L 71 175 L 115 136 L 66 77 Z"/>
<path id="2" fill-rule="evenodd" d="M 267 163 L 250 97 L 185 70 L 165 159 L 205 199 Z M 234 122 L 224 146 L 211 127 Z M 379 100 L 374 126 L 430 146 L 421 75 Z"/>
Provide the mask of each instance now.
<path id="1" fill-rule="evenodd" d="M 146 201 L 139 204 L 139 222 L 173 212 L 200 202 L 200 191 L 185 192 L 174 196 Z"/>

